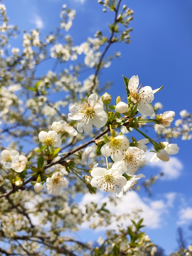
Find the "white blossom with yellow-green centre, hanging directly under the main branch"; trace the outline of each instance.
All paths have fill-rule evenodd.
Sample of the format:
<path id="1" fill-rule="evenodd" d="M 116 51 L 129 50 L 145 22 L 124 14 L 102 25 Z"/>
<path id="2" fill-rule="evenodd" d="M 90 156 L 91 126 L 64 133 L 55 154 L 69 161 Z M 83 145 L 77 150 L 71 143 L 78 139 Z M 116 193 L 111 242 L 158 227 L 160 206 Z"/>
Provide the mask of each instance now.
<path id="1" fill-rule="evenodd" d="M 128 147 L 129 140 L 125 135 L 111 136 L 109 137 L 109 142 L 101 147 L 100 152 L 104 157 L 110 156 L 116 162 L 123 159 Z"/>

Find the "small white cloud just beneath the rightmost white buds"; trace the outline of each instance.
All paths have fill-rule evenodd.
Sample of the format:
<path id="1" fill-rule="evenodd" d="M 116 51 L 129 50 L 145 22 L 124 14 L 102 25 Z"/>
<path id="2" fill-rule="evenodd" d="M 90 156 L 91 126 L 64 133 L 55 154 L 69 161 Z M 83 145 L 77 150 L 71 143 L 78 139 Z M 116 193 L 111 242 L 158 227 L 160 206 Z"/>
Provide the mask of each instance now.
<path id="1" fill-rule="evenodd" d="M 179 161 L 177 157 L 170 156 L 170 160 L 168 162 L 163 162 L 158 159 L 157 162 L 150 162 L 152 158 L 152 153 L 146 153 L 146 159 L 148 160 L 147 166 L 151 168 L 159 168 L 160 172 L 164 175 L 161 177 L 162 180 L 174 180 L 177 179 L 181 175 L 181 171 L 183 170 L 183 164 Z"/>

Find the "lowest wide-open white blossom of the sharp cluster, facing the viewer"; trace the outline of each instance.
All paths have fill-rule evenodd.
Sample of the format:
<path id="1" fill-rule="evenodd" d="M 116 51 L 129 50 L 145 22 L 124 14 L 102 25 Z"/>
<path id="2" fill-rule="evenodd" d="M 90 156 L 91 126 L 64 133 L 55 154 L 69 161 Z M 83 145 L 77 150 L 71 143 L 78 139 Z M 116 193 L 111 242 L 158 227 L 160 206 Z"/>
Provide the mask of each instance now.
<path id="1" fill-rule="evenodd" d="M 122 172 L 117 168 L 111 168 L 109 170 L 96 167 L 91 171 L 92 180 L 91 185 L 94 187 L 103 188 L 104 191 L 109 193 L 116 192 L 116 186 L 124 186 L 127 179 L 122 176 Z"/>

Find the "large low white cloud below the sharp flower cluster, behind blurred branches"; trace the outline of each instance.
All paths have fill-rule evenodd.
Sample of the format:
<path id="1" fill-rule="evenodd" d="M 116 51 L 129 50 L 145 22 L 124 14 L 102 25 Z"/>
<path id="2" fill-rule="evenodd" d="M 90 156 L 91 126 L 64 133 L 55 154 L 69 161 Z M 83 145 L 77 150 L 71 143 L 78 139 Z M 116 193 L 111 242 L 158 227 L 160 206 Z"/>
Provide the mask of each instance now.
<path id="1" fill-rule="evenodd" d="M 118 198 L 118 203 L 114 205 L 110 201 L 109 195 L 106 195 L 106 193 L 97 193 L 96 195 L 90 195 L 87 193 L 83 196 L 80 205 L 83 210 L 83 205 L 89 204 L 89 202 L 94 202 L 98 204 L 98 206 L 106 202 L 106 208 L 109 209 L 111 213 L 118 216 L 123 215 L 123 227 L 127 227 L 127 225 L 130 224 L 130 215 L 132 216 L 132 212 L 138 209 L 140 210 L 138 213 L 139 217 L 144 218 L 144 225 L 150 229 L 156 229 L 165 225 L 165 213 L 168 216 L 169 208 L 172 207 L 174 198 L 174 193 L 168 193 L 165 194 L 161 200 L 151 200 L 149 198 L 141 198 L 138 193 L 131 191 L 123 195 L 122 198 Z M 89 222 L 85 221 L 81 227 L 87 229 L 91 222 L 97 222 L 97 220 L 94 218 Z M 97 231 L 116 229 L 120 223 L 120 220 L 113 220 L 112 224 L 107 228 L 104 226 L 98 227 Z"/>

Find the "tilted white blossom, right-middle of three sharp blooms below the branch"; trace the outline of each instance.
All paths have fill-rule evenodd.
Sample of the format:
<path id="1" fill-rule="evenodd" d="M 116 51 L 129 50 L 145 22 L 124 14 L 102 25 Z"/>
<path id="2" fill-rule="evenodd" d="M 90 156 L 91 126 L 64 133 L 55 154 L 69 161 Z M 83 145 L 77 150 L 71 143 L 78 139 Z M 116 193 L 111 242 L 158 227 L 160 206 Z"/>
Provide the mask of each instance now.
<path id="1" fill-rule="evenodd" d="M 119 162 L 114 162 L 112 168 L 118 168 L 127 175 L 133 175 L 141 162 L 141 158 L 145 157 L 145 152 L 137 147 L 129 147 L 125 152 L 125 156 Z"/>

